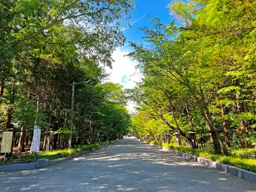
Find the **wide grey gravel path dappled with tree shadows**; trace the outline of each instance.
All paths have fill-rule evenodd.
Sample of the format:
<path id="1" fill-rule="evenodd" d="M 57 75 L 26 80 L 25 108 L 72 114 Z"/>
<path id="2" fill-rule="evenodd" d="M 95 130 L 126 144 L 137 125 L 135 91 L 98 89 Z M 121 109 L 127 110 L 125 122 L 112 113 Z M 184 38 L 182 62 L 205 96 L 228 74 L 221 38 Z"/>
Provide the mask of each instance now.
<path id="1" fill-rule="evenodd" d="M 223 174 L 135 140 L 120 141 L 46 169 L 0 173 L 0 191 L 256 191 Z"/>

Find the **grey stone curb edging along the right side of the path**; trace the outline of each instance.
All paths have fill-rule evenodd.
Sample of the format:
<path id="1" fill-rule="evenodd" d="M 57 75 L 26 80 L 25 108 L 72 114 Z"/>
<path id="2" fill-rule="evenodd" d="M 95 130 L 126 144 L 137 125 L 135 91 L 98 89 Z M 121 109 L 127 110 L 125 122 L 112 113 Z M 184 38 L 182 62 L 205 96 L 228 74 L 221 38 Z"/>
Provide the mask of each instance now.
<path id="1" fill-rule="evenodd" d="M 148 143 L 148 142 L 144 142 L 144 143 Z M 241 168 L 238 168 L 238 167 L 222 164 L 222 163 L 215 162 L 215 161 L 212 161 L 212 160 L 209 160 L 209 159 L 206 159 L 206 158 L 197 157 L 197 156 L 190 155 L 190 154 L 183 153 L 183 152 L 179 152 L 179 151 L 176 151 L 176 150 L 170 150 L 167 147 L 163 147 L 163 146 L 156 145 L 156 144 L 153 144 L 153 143 L 148 143 L 148 144 L 158 146 L 158 148 L 160 148 L 161 150 L 165 150 L 169 153 L 175 153 L 176 155 L 182 156 L 186 159 L 190 159 L 190 160 L 193 160 L 195 162 L 199 162 L 201 164 L 204 164 L 204 165 L 212 167 L 212 168 L 217 168 L 219 170 L 222 170 L 225 173 L 228 173 L 228 174 L 237 176 L 239 178 L 242 178 L 242 179 L 245 179 L 245 180 L 256 183 L 256 173 L 249 172 L 248 170 L 244 170 L 244 169 L 241 169 Z"/>

